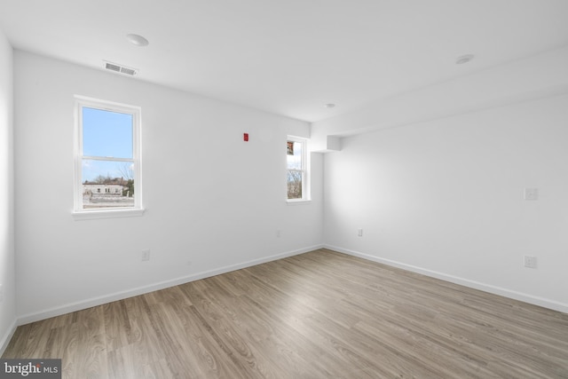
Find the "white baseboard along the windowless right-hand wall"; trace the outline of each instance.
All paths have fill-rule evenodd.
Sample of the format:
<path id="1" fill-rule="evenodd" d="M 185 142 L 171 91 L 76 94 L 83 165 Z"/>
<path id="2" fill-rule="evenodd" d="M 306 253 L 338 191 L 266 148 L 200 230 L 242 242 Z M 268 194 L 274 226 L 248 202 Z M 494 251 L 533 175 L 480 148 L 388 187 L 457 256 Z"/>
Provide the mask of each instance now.
<path id="1" fill-rule="evenodd" d="M 490 294 L 493 294 L 493 295 L 509 297 L 511 299 L 519 300 L 519 301 L 522 301 L 522 302 L 525 302 L 525 303 L 528 303 L 528 304 L 539 305 L 539 306 L 542 306 L 544 308 L 552 309 L 554 311 L 568 313 L 568 304 L 556 302 L 555 300 L 550 300 L 550 299 L 539 297 L 539 296 L 528 295 L 528 294 L 524 294 L 522 292 L 517 292 L 517 291 L 513 291 L 511 289 L 507 289 L 507 288 L 496 287 L 496 286 L 481 283 L 481 282 L 478 282 L 478 281 L 475 281 L 475 280 L 463 279 L 463 278 L 459 278 L 457 276 L 448 275 L 448 274 L 443 273 L 443 272 L 436 272 L 436 271 L 423 269 L 421 267 L 414 266 L 414 265 L 406 265 L 406 264 L 403 264 L 403 263 L 400 263 L 400 262 L 397 262 L 397 261 L 393 261 L 393 260 L 390 260 L 390 259 L 384 259 L 384 258 L 381 258 L 381 257 L 370 256 L 368 254 L 360 253 L 359 251 L 354 251 L 354 250 L 350 250 L 350 249 L 343 249 L 343 248 L 339 248 L 337 246 L 324 245 L 324 248 L 330 249 L 330 250 L 335 250 L 335 251 L 338 251 L 340 253 L 348 254 L 348 255 L 353 256 L 353 257 L 359 257 L 359 258 L 367 259 L 369 261 L 377 262 L 377 263 L 380 263 L 380 264 L 383 264 L 383 265 L 390 265 L 390 266 L 397 267 L 397 268 L 400 268 L 400 269 L 403 269 L 403 270 L 406 270 L 406 271 L 421 273 L 422 275 L 430 276 L 432 278 L 436 278 L 436 279 L 439 279 L 439 280 L 446 280 L 446 281 L 449 281 L 449 282 L 452 282 L 452 283 L 455 283 L 455 284 L 459 284 L 461 286 L 479 289 L 481 291 L 489 292 Z"/>

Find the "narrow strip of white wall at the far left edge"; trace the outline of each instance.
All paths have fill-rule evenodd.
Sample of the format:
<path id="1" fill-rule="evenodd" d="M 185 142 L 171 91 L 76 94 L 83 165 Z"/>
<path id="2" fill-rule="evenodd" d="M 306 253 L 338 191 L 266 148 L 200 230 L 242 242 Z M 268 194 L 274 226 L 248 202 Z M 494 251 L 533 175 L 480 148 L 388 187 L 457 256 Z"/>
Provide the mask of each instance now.
<path id="1" fill-rule="evenodd" d="M 12 46 L 0 30 L 0 355 L 15 328 Z"/>

